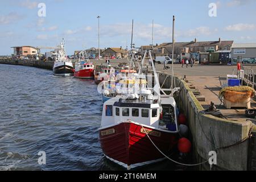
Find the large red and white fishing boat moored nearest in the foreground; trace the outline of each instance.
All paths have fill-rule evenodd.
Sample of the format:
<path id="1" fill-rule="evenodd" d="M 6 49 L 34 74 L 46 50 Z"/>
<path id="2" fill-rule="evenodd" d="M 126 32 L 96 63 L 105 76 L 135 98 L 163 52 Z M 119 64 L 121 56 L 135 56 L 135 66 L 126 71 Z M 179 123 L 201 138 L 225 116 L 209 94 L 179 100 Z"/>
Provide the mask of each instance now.
<path id="1" fill-rule="evenodd" d="M 140 88 L 138 93 L 111 98 L 103 106 L 99 129 L 102 151 L 127 169 L 164 160 L 163 154 L 171 154 L 179 137 L 175 99 L 172 94 L 160 94 L 151 53 L 150 61 L 154 94 L 152 88 Z"/>

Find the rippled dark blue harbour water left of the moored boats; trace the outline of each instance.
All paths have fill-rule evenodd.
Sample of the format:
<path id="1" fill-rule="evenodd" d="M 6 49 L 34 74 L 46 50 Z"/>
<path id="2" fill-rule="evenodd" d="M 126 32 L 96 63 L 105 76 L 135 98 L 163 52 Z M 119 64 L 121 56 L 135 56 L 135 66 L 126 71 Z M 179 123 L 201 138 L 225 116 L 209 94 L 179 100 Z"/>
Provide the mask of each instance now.
<path id="1" fill-rule="evenodd" d="M 0 170 L 123 169 L 102 154 L 102 100 L 93 80 L 2 64 L 0 78 Z M 38 164 L 39 151 L 46 165 Z"/>

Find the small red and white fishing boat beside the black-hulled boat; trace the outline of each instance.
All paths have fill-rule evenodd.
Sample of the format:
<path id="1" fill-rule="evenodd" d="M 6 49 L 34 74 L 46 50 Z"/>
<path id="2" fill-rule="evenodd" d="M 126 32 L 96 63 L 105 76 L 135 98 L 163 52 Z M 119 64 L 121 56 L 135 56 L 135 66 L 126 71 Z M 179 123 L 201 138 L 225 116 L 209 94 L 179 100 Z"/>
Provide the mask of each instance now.
<path id="1" fill-rule="evenodd" d="M 79 55 L 79 61 L 75 65 L 75 77 L 76 78 L 94 78 L 94 65 L 90 63 L 86 52 L 81 51 Z"/>

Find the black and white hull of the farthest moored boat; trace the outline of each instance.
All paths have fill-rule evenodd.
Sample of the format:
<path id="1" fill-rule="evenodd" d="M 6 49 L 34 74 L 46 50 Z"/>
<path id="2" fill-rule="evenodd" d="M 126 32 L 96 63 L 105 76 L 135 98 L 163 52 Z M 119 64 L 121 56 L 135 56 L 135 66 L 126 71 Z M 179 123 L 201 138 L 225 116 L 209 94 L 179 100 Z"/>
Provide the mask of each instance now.
<path id="1" fill-rule="evenodd" d="M 72 64 L 72 63 L 71 63 Z M 53 75 L 72 76 L 74 75 L 73 66 L 69 63 L 57 63 L 53 66 Z"/>

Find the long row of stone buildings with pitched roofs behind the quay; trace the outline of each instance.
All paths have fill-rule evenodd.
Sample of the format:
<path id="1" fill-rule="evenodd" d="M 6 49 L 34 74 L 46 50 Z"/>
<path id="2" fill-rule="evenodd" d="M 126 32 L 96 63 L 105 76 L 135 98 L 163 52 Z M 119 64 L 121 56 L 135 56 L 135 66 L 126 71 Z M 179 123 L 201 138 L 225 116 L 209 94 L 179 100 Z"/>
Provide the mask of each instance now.
<path id="1" fill-rule="evenodd" d="M 176 42 L 174 44 L 174 59 L 189 59 L 188 55 L 193 54 L 193 57 L 198 57 L 200 52 L 216 52 L 230 51 L 233 45 L 233 40 L 222 41 L 205 41 L 198 42 L 197 39 L 191 42 Z M 172 57 L 172 43 L 163 43 L 156 46 L 152 54 L 154 56 L 170 56 Z"/>

